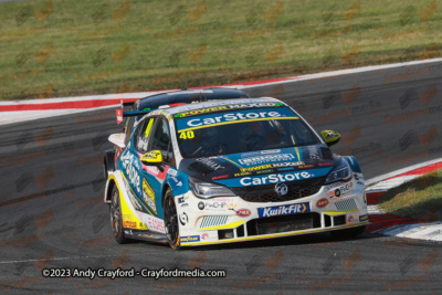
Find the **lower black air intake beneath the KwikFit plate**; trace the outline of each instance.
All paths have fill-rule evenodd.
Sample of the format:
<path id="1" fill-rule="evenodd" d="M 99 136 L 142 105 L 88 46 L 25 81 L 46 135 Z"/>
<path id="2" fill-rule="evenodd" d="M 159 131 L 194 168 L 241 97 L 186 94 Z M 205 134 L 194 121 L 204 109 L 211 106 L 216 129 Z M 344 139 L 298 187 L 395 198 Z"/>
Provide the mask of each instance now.
<path id="1" fill-rule="evenodd" d="M 319 213 L 281 215 L 254 219 L 246 223 L 248 235 L 293 232 L 320 228 Z"/>

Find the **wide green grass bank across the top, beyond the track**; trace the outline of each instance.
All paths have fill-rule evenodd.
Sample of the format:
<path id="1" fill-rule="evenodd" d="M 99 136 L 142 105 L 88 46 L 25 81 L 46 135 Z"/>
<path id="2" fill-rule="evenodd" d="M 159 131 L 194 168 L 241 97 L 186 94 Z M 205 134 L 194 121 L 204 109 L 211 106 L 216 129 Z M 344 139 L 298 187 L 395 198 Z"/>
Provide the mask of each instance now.
<path id="1" fill-rule="evenodd" d="M 0 99 L 218 85 L 441 56 L 442 15 L 428 0 L 0 7 Z"/>

